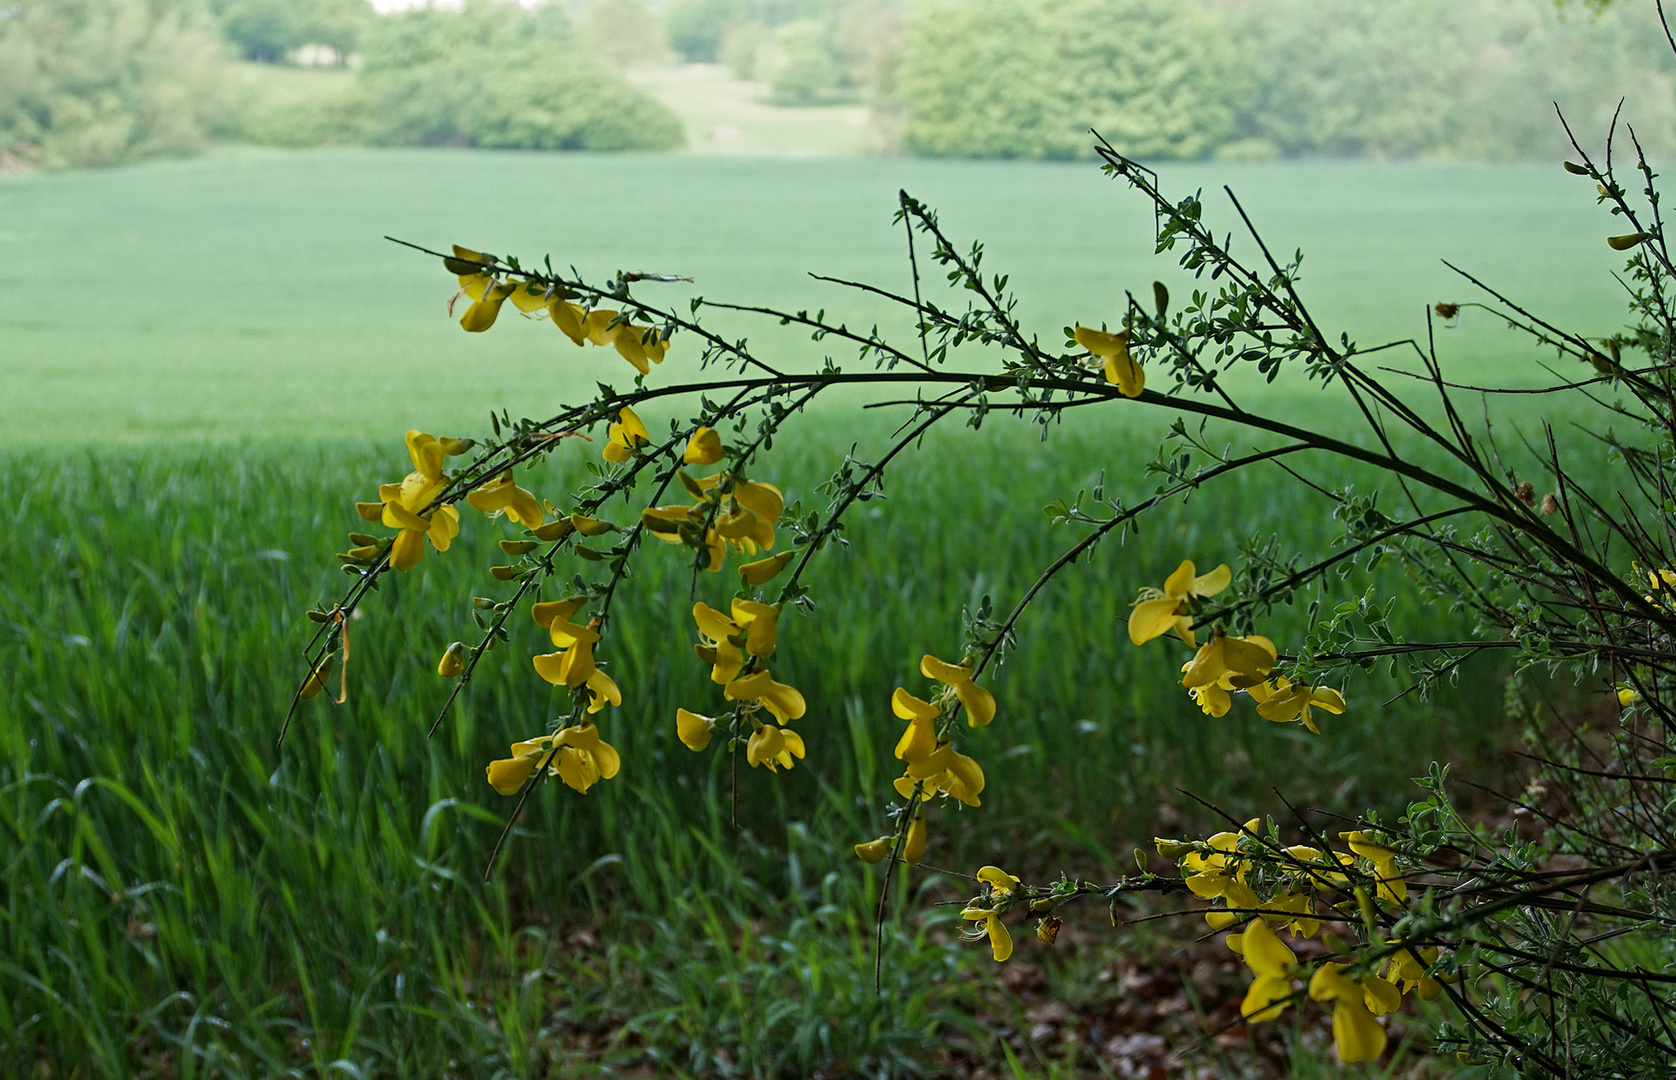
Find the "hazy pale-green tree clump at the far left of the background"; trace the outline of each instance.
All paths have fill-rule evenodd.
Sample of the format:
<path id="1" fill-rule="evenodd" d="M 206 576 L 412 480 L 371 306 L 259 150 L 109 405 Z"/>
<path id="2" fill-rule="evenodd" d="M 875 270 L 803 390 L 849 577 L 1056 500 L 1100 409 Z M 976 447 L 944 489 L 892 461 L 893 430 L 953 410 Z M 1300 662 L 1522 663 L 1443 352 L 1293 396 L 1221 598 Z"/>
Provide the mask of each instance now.
<path id="1" fill-rule="evenodd" d="M 173 3 L 17 0 L 0 12 L 0 153 L 27 163 L 194 151 L 225 87 L 220 44 Z"/>

